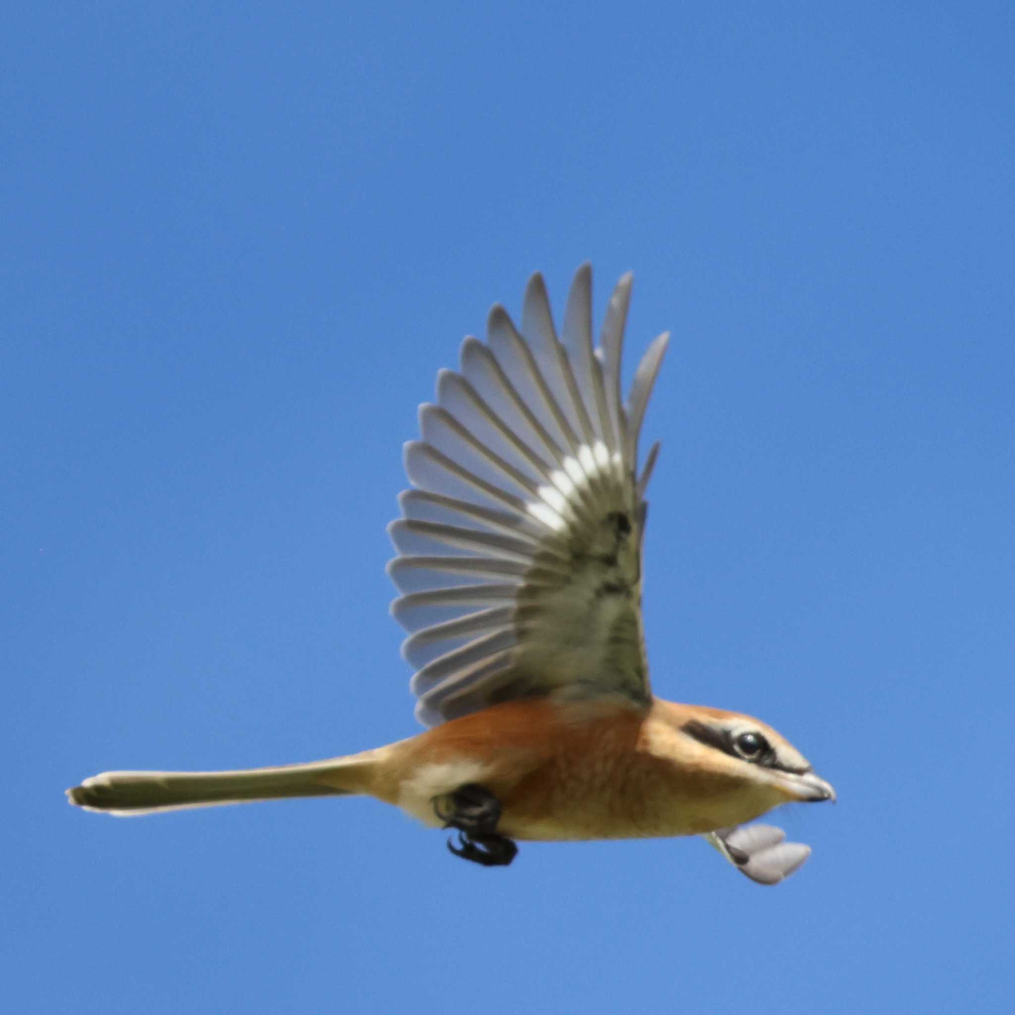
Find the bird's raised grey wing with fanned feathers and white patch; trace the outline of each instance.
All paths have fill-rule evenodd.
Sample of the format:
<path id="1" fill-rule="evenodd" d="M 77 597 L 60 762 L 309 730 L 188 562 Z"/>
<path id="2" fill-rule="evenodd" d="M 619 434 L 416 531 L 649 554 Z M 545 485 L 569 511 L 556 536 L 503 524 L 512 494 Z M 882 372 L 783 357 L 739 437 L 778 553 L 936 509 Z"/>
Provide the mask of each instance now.
<path id="1" fill-rule="evenodd" d="M 658 445 L 638 474 L 637 436 L 669 336 L 623 403 L 630 287 L 617 283 L 594 348 L 590 267 L 559 337 L 533 275 L 521 330 L 494 306 L 486 343 L 466 338 L 461 370 L 442 370 L 436 404 L 420 406 L 389 573 L 428 726 L 554 692 L 649 699 L 640 555 Z"/>

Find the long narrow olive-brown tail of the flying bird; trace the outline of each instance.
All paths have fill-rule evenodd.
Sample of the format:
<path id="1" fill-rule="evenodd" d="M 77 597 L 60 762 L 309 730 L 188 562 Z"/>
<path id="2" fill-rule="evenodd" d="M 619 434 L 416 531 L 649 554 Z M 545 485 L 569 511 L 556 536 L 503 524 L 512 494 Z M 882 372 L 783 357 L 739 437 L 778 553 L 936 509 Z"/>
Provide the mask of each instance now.
<path id="1" fill-rule="evenodd" d="M 72 804 L 107 814 L 152 814 L 188 807 L 368 792 L 376 752 L 244 771 L 104 771 L 67 791 Z"/>

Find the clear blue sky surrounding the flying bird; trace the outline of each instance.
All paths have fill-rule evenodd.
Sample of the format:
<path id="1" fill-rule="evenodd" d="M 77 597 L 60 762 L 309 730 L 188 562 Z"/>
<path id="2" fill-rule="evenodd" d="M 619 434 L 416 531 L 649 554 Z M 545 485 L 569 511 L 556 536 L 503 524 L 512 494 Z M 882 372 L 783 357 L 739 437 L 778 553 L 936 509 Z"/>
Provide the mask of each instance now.
<path id="1" fill-rule="evenodd" d="M 4 1010 L 1010 1012 L 1015 8 L 9 5 Z M 488 307 L 635 271 L 657 691 L 834 783 L 507 870 L 370 800 L 107 768 L 416 732 L 386 523 Z"/>

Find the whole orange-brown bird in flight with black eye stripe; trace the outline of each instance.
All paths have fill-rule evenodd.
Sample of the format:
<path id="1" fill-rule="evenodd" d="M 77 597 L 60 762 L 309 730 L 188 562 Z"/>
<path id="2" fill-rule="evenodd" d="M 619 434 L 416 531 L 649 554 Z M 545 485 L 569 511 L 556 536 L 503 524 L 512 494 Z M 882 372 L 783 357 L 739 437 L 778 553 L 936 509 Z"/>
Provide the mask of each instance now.
<path id="1" fill-rule="evenodd" d="M 631 275 L 593 340 L 592 271 L 574 275 L 558 333 L 540 274 L 520 327 L 490 311 L 458 371 L 437 375 L 405 446 L 412 488 L 389 528 L 392 606 L 417 736 L 358 754 L 244 771 L 108 771 L 67 791 L 110 814 L 366 794 L 485 867 L 519 840 L 702 835 L 752 880 L 777 884 L 810 854 L 749 824 L 781 804 L 834 800 L 771 727 L 656 697 L 641 626 L 641 547 L 654 446 L 638 433 L 668 335 L 624 401 Z"/>

